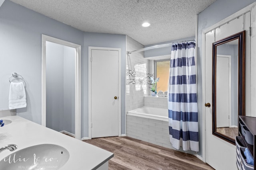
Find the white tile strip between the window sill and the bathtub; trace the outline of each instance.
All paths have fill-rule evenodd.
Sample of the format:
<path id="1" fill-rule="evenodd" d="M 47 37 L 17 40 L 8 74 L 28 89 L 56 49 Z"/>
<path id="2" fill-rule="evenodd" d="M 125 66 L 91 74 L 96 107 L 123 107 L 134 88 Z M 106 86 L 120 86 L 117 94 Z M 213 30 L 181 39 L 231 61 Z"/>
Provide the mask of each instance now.
<path id="1" fill-rule="evenodd" d="M 144 106 L 168 109 L 167 97 L 144 96 Z"/>

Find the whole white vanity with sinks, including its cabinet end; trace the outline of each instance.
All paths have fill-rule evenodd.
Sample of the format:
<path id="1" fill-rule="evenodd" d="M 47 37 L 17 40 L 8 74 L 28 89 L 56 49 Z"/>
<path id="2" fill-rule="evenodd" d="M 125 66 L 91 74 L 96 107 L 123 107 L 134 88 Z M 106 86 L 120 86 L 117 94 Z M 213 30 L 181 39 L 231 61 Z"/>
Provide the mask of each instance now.
<path id="1" fill-rule="evenodd" d="M 56 147 L 54 146 L 58 146 L 57 149 L 60 149 L 60 154 L 69 154 L 68 160 L 60 160 L 64 161 L 64 165 L 57 168 L 59 170 L 108 170 L 108 160 L 114 156 L 113 153 L 108 152 L 107 150 L 95 147 L 78 139 L 74 139 L 47 127 L 43 127 L 17 115 L 0 117 L 0 119 L 7 119 L 11 121 L 11 123 L 0 127 L 0 148 L 9 144 L 15 144 L 18 146 L 18 149 L 12 152 L 8 149 L 3 150 L 0 153 L 0 161 L 6 158 L 6 156 L 9 158 L 10 154 L 16 152 L 16 158 L 7 158 L 4 163 L 9 163 L 9 161 L 11 162 L 10 164 L 13 164 L 15 161 L 16 163 L 22 162 L 24 166 L 19 164 L 17 169 L 27 170 L 30 168 L 30 165 L 28 166 L 28 164 L 26 164 L 26 162 L 29 161 L 27 160 L 28 158 L 26 158 L 26 156 L 24 156 L 24 158 L 18 157 L 17 155 L 22 149 L 26 151 L 28 149 L 25 148 L 31 148 L 34 145 L 37 145 L 34 149 L 40 149 L 40 147 L 45 147 L 47 144 L 53 148 L 49 149 L 49 147 L 46 146 L 49 150 L 56 150 Z M 45 157 L 42 154 L 39 155 L 40 153 L 38 153 L 38 151 L 34 151 L 34 149 L 28 153 L 30 154 L 31 152 L 32 157 L 34 158 L 33 161 L 35 162 L 40 160 L 43 162 L 54 162 L 54 159 L 57 160 L 57 158 L 55 158 L 56 156 L 54 156 L 54 153 L 52 152 L 50 152 L 52 153 L 50 157 Z M 42 150 L 45 149 L 43 148 Z M 33 152 L 36 152 L 36 155 Z M 47 153 L 49 152 L 47 151 Z M 26 155 L 25 152 L 22 152 L 22 154 Z M 53 168 L 50 167 L 51 169 L 56 169 L 54 168 L 54 164 L 51 165 L 53 165 Z"/>

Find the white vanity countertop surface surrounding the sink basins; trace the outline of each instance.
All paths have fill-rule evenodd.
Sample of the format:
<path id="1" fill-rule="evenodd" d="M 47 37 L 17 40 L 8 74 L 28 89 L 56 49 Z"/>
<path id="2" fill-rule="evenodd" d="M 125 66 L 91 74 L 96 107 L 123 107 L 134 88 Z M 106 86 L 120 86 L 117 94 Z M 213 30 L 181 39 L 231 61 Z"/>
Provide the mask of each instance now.
<path id="1" fill-rule="evenodd" d="M 0 148 L 9 144 L 18 145 L 18 151 L 33 145 L 44 143 L 60 145 L 68 150 L 70 158 L 60 170 L 96 169 L 110 158 L 113 153 L 100 149 L 78 139 L 74 139 L 19 116 L 0 117 L 12 123 L 0 127 Z M 15 152 L 14 151 L 14 152 Z M 12 154 L 9 150 L 0 153 L 0 160 Z"/>

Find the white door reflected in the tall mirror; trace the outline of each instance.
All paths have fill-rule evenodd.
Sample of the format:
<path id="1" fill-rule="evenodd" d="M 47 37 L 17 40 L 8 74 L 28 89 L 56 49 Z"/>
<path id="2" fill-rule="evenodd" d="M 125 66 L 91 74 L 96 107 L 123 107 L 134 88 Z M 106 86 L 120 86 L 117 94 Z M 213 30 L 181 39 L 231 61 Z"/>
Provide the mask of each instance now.
<path id="1" fill-rule="evenodd" d="M 216 64 L 216 127 L 230 127 L 230 58 L 217 55 Z"/>

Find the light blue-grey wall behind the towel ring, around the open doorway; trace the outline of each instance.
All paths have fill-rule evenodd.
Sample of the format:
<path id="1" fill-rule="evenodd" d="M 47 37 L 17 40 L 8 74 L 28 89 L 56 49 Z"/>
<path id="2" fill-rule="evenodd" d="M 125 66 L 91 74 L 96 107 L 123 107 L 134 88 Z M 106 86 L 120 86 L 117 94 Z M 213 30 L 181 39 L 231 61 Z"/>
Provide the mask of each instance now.
<path id="1" fill-rule="evenodd" d="M 27 107 L 17 115 L 42 122 L 42 34 L 83 46 L 84 32 L 6 0 L 0 9 L 0 109 L 8 109 L 9 76 L 22 75 Z M 82 57 L 85 57 L 82 52 Z"/>

